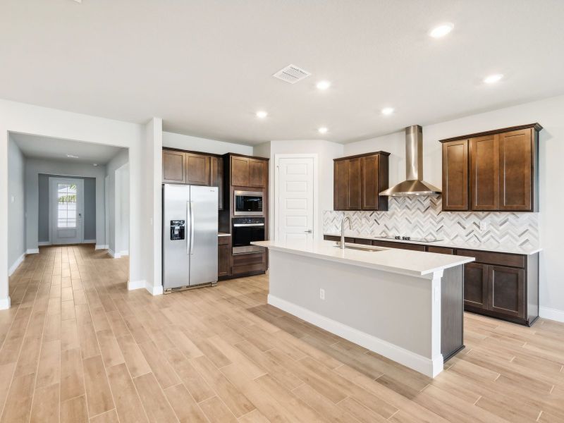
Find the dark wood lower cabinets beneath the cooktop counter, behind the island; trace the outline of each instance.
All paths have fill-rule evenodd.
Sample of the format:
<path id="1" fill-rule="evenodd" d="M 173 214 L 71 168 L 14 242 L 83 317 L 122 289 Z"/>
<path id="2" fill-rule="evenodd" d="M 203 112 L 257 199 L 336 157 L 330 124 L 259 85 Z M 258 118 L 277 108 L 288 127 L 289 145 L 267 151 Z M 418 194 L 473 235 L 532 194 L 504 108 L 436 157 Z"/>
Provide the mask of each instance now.
<path id="1" fill-rule="evenodd" d="M 336 235 L 325 240 L 338 241 Z M 368 238 L 346 238 L 348 243 L 474 257 L 464 265 L 464 309 L 531 326 L 539 317 L 539 253 L 508 254 L 439 247 Z"/>

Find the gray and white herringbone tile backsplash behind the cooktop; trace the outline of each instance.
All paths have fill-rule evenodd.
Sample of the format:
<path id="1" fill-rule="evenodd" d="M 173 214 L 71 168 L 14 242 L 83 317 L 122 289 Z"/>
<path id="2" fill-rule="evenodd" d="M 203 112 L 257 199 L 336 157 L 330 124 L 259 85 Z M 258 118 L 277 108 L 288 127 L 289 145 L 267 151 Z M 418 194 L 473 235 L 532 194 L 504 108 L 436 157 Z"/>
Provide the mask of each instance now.
<path id="1" fill-rule="evenodd" d="M 450 242 L 479 242 L 536 247 L 539 245 L 538 213 L 443 212 L 439 196 L 390 197 L 388 212 L 335 212 L 323 214 L 324 233 L 340 233 L 344 214 L 353 221 L 348 236 L 373 238 L 404 235 L 441 238 Z M 488 228 L 480 231 L 480 221 Z"/>

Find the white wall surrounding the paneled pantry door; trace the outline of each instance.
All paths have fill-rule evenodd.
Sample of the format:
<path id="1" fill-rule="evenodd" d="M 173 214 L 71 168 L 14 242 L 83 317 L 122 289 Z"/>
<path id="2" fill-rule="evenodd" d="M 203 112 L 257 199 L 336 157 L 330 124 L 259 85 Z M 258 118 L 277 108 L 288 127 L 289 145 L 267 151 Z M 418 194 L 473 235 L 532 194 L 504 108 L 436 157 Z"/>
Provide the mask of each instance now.
<path id="1" fill-rule="evenodd" d="M 254 154 L 269 157 L 269 237 L 274 239 L 274 178 L 276 172 L 276 154 L 317 154 L 319 179 L 319 204 L 317 207 L 317 226 L 314 228 L 315 238 L 323 238 L 323 211 L 333 209 L 333 159 L 343 156 L 343 145 L 324 140 L 288 140 L 269 141 L 255 146 Z"/>

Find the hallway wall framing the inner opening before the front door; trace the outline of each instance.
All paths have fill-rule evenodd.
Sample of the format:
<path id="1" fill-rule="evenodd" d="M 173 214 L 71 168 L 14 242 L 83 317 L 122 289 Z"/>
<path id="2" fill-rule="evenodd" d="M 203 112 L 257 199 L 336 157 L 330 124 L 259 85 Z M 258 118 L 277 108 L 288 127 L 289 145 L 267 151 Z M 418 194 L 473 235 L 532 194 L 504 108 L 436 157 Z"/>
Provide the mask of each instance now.
<path id="1" fill-rule="evenodd" d="M 25 227 L 26 248 L 39 245 L 39 173 L 60 176 L 96 178 L 96 242 L 104 244 L 104 166 L 47 159 L 25 161 Z"/>

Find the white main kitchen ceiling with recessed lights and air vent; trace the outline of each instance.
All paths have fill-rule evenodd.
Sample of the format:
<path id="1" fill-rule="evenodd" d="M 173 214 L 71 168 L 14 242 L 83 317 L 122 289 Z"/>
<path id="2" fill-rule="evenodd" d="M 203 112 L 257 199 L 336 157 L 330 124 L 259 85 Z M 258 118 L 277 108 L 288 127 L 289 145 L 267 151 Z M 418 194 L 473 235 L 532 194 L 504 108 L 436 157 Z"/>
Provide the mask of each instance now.
<path id="1" fill-rule="evenodd" d="M 350 142 L 563 93 L 563 16 L 560 0 L 3 0 L 0 97 L 250 145 Z M 271 77 L 290 63 L 312 76 Z"/>

